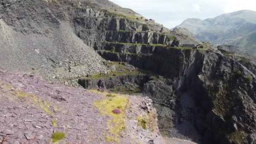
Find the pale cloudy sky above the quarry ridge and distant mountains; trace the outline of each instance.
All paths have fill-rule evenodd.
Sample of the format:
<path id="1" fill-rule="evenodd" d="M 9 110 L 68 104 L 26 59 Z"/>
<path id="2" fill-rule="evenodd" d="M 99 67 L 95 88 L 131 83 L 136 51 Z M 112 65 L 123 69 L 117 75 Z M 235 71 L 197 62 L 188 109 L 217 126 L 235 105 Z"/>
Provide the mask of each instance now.
<path id="1" fill-rule="evenodd" d="M 110 0 L 173 28 L 188 18 L 214 18 L 240 10 L 256 11 L 256 0 Z"/>

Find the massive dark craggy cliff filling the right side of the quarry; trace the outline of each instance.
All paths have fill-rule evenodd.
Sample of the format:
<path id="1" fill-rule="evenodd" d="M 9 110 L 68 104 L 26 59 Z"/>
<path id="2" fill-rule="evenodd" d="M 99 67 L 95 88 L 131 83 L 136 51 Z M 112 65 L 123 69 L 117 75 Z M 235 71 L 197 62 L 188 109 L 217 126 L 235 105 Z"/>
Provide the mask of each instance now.
<path id="1" fill-rule="evenodd" d="M 182 51 L 176 51 L 176 55 L 179 53 Z M 252 116 L 256 114 L 255 75 L 219 53 L 186 51 L 183 56 L 176 64 L 161 66 L 164 69 L 178 66 L 177 71 L 171 70 L 168 76 L 178 77 L 174 91 L 190 91 L 193 96 L 199 108 L 195 120 L 201 120 L 198 128 L 204 141 L 245 142 L 246 136 L 255 133 L 256 119 Z"/>

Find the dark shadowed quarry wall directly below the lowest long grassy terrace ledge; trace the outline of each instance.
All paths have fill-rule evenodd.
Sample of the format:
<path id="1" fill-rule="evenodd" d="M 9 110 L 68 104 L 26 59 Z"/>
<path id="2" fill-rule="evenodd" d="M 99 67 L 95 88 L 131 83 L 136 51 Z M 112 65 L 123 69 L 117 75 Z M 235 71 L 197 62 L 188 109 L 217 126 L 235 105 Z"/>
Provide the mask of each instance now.
<path id="1" fill-rule="evenodd" d="M 125 61 L 141 69 L 151 70 L 165 77 L 182 77 L 190 63 L 203 55 L 198 50 L 164 48 L 156 46 L 149 54 L 112 53 L 101 51 L 101 56 L 110 61 Z M 197 61 L 196 61 L 197 62 Z M 198 66 L 196 66 L 198 67 Z M 178 85 L 177 85 L 178 86 Z"/>

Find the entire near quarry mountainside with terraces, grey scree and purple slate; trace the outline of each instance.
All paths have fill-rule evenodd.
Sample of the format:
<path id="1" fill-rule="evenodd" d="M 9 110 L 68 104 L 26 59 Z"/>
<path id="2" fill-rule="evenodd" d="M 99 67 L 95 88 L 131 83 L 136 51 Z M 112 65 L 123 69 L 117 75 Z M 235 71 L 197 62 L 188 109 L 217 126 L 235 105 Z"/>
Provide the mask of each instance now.
<path id="1" fill-rule="evenodd" d="M 108 0 L 0 0 L 0 143 L 253 144 L 255 64 L 229 50 Z"/>

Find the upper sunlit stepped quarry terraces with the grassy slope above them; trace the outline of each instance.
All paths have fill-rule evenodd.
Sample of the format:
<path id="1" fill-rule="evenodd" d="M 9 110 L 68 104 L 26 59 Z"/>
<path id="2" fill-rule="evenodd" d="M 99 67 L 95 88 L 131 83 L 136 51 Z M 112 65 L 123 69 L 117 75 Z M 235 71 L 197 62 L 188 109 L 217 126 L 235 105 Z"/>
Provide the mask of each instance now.
<path id="1" fill-rule="evenodd" d="M 106 42 L 170 46 L 178 46 L 181 42 L 200 43 L 192 35 L 172 32 L 154 21 L 145 21 L 133 11 L 124 13 L 123 10 L 112 11 L 111 8 L 99 9 L 88 3 L 70 2 L 73 6 L 68 7 L 67 11 L 74 23 L 76 35 L 96 50 L 106 50 Z"/>

